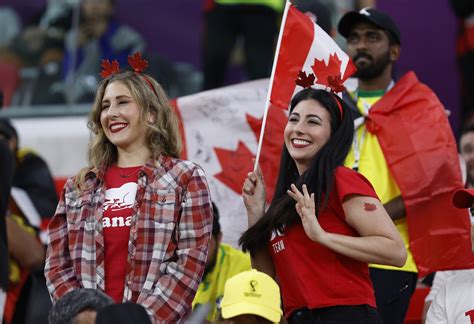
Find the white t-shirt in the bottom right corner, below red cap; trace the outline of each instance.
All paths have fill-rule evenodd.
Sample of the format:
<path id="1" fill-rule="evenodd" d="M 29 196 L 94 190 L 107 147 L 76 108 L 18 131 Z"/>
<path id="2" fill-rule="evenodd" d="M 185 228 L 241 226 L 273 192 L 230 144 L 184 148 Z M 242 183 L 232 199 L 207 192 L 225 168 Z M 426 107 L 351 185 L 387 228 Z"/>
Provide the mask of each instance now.
<path id="1" fill-rule="evenodd" d="M 428 309 L 426 323 L 474 323 L 474 269 L 455 271 L 447 278 Z"/>

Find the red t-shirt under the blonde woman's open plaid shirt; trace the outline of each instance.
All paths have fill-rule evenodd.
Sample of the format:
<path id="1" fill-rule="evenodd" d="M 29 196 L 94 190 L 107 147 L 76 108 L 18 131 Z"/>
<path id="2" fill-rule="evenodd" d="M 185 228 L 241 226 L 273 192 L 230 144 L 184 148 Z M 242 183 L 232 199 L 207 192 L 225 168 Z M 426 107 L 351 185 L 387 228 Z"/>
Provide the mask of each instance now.
<path id="1" fill-rule="evenodd" d="M 123 299 L 127 271 L 128 241 L 133 205 L 141 166 L 110 166 L 105 172 L 104 229 L 105 293 L 117 303 Z"/>

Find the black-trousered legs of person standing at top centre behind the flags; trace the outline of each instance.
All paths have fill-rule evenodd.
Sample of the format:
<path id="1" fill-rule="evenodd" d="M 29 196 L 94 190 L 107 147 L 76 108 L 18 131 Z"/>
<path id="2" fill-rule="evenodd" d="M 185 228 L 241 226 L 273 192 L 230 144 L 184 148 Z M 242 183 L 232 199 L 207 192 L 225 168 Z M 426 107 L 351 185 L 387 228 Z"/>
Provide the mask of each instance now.
<path id="1" fill-rule="evenodd" d="M 205 0 L 203 89 L 224 85 L 232 50 L 243 38 L 249 80 L 270 76 L 283 0 Z"/>

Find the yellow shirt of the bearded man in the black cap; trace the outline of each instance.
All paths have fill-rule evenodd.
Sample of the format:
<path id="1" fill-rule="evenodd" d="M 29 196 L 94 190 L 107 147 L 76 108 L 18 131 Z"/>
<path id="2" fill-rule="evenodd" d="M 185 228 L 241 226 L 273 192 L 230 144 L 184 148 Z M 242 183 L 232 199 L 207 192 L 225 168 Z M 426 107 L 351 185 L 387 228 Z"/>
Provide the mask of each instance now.
<path id="1" fill-rule="evenodd" d="M 373 91 L 373 92 L 362 92 L 358 93 L 357 108 L 361 113 L 367 111 L 375 104 L 384 94 L 384 91 Z M 375 192 L 380 198 L 380 201 L 385 204 L 395 197 L 400 195 L 400 189 L 398 188 L 395 180 L 393 179 L 390 170 L 388 169 L 387 162 L 383 155 L 380 144 L 377 140 L 377 136 L 367 131 L 365 124 L 357 129 L 354 136 L 357 136 L 357 143 L 360 147 L 360 158 L 359 158 L 359 172 L 363 174 L 374 186 Z M 355 162 L 354 145 L 352 146 L 349 155 L 346 158 L 345 166 L 352 168 Z M 413 259 L 409 246 L 408 227 L 406 218 L 397 219 L 394 221 L 395 226 L 400 232 L 400 236 L 405 243 L 408 257 L 405 265 L 401 268 L 371 264 L 371 267 L 389 269 L 389 270 L 402 270 L 408 272 L 418 272 L 418 269 Z"/>

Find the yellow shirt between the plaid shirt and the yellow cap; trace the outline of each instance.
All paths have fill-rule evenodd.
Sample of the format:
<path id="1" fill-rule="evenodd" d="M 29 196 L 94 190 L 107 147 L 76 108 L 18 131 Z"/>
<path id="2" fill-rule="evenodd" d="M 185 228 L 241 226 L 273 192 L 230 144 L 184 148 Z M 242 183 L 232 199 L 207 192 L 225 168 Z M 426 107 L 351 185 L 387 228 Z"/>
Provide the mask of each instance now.
<path id="1" fill-rule="evenodd" d="M 225 282 L 236 274 L 251 268 L 250 256 L 247 253 L 221 243 L 217 251 L 214 269 L 199 284 L 193 300 L 193 310 L 199 304 L 210 303 L 211 310 L 206 319 L 210 322 L 217 321 L 219 318 L 217 305 L 220 304 L 224 294 Z"/>

